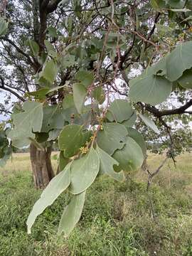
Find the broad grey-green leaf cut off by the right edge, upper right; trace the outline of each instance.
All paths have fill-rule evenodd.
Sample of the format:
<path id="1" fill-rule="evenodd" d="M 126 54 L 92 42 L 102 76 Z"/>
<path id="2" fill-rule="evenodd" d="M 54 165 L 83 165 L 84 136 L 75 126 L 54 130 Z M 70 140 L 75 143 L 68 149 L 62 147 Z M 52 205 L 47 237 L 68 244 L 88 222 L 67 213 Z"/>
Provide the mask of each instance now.
<path id="1" fill-rule="evenodd" d="M 192 67 L 192 42 L 177 46 L 166 58 L 166 77 L 170 81 L 181 78 L 183 72 Z"/>

